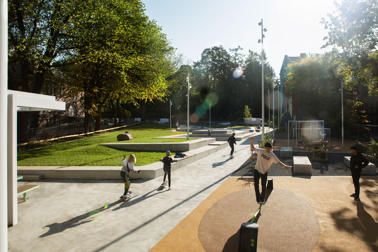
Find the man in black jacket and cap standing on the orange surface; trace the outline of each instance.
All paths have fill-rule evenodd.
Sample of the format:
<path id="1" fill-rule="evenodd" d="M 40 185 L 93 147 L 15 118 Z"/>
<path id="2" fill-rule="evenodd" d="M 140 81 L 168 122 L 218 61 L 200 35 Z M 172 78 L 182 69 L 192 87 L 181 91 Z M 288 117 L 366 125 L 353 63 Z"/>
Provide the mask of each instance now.
<path id="1" fill-rule="evenodd" d="M 359 177 L 362 173 L 362 168 L 366 167 L 369 164 L 369 161 L 361 154 L 357 152 L 357 147 L 350 147 L 350 172 L 352 173 L 352 180 L 355 186 L 355 193 L 351 194 L 351 197 L 354 197 L 355 200 L 359 200 Z"/>

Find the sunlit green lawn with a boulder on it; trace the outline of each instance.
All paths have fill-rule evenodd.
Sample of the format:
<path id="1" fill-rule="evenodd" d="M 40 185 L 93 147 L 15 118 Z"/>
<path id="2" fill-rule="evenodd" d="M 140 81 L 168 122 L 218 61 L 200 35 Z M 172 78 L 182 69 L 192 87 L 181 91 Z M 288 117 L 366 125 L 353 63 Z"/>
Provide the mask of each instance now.
<path id="1" fill-rule="evenodd" d="M 114 143 L 117 135 L 126 130 L 117 131 L 101 136 L 94 136 L 51 145 L 17 154 L 19 166 L 121 166 L 123 156 L 134 154 L 136 166 L 151 164 L 165 156 L 164 152 L 132 151 L 118 148 L 110 148 L 104 143 Z M 133 139 L 127 143 L 143 142 L 184 142 L 187 139 L 153 138 L 159 136 L 180 135 L 183 132 L 172 132 L 167 124 L 145 124 L 127 129 L 133 135 Z M 175 150 L 170 150 L 175 152 Z"/>

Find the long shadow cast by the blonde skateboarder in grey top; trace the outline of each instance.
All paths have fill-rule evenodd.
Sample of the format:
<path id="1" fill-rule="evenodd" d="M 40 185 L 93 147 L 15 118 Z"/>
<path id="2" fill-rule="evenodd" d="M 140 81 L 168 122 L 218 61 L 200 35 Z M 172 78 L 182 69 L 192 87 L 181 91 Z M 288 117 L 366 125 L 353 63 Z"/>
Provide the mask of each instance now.
<path id="1" fill-rule="evenodd" d="M 115 201 L 111 204 L 108 204 L 106 206 L 103 206 L 103 207 L 99 207 L 98 209 L 95 209 L 91 212 L 87 212 L 87 213 L 83 213 L 82 215 L 79 215 L 79 216 L 76 216 L 68 221 L 64 221 L 62 223 L 53 223 L 53 224 L 50 224 L 50 225 L 46 225 L 44 227 L 49 227 L 50 229 L 40 235 L 39 237 L 46 237 L 46 236 L 49 236 L 49 235 L 53 235 L 55 233 L 60 233 L 60 232 L 63 232 L 64 230 L 66 229 L 69 229 L 71 227 L 77 227 L 77 226 L 80 226 L 84 223 L 88 223 L 88 222 L 91 222 L 93 220 L 95 220 L 95 218 L 99 215 L 101 215 L 101 212 L 104 211 L 105 209 L 109 209 L 113 206 L 115 206 L 116 204 L 119 204 L 122 202 L 122 199 L 119 199 L 118 201 Z"/>

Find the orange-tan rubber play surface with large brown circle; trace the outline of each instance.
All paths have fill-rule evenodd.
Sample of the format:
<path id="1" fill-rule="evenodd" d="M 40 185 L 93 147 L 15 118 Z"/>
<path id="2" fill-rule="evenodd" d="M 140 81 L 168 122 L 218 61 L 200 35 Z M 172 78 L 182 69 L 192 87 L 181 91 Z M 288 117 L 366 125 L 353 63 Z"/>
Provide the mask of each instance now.
<path id="1" fill-rule="evenodd" d="M 257 251 L 378 251 L 378 178 L 360 179 L 361 201 L 349 196 L 350 177 L 271 178 Z M 228 178 L 150 251 L 237 251 L 255 202 L 253 178 Z"/>

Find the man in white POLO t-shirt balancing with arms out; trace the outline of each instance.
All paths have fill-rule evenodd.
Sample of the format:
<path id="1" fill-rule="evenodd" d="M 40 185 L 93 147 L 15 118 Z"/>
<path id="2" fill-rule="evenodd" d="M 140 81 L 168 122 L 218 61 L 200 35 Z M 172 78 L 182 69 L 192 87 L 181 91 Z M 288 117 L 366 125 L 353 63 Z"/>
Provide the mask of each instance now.
<path id="1" fill-rule="evenodd" d="M 272 144 L 270 142 L 265 143 L 265 149 L 255 148 L 253 145 L 254 137 L 251 137 L 251 150 L 256 152 L 257 161 L 255 165 L 255 170 L 253 171 L 253 180 L 255 182 L 255 193 L 257 204 L 265 204 L 265 192 L 266 192 L 266 180 L 268 179 L 268 169 L 271 164 L 275 163 L 279 166 L 285 167 L 286 169 L 292 166 L 285 165 L 278 160 L 277 156 L 271 152 Z M 259 182 L 261 178 L 261 195 L 259 189 Z"/>

